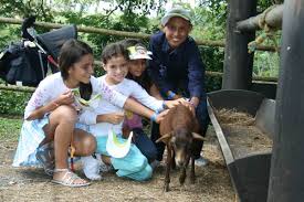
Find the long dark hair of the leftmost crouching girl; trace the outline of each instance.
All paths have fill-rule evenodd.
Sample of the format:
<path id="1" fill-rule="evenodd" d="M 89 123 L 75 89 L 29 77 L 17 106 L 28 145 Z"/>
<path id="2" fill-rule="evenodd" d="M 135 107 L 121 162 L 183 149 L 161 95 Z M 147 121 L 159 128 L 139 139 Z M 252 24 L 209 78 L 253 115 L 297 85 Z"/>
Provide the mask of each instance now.
<path id="1" fill-rule="evenodd" d="M 86 43 L 78 40 L 67 40 L 61 47 L 59 56 L 59 67 L 62 78 L 65 81 L 69 78 L 69 70 L 73 64 L 77 63 L 82 56 L 92 54 L 93 50 Z M 92 84 L 80 83 L 81 97 L 88 100 L 92 95 Z"/>

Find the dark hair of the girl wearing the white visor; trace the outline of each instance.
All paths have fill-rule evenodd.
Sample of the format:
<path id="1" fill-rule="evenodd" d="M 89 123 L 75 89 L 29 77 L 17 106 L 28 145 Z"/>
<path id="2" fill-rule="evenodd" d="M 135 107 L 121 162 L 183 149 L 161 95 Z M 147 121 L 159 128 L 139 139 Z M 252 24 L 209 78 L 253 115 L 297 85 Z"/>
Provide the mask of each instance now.
<path id="1" fill-rule="evenodd" d="M 139 45 L 139 46 L 144 46 L 145 47 L 144 43 L 140 40 L 137 40 L 137 39 L 126 39 L 126 40 L 120 41 L 120 43 L 124 45 L 125 50 L 127 50 L 130 46 L 135 46 L 135 45 Z M 147 73 L 147 70 L 145 70 L 140 76 L 133 76 L 128 72 L 126 78 L 135 81 L 143 88 L 145 88 L 147 92 L 150 91 L 151 79 L 150 79 L 150 77 L 149 77 L 149 75 Z"/>

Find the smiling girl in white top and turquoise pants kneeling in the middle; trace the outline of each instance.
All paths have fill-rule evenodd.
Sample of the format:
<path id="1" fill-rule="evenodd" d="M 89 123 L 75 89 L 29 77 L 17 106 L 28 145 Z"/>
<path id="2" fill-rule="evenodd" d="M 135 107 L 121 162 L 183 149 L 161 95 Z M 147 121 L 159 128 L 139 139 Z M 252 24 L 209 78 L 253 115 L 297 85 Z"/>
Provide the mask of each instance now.
<path id="1" fill-rule="evenodd" d="M 156 110 L 161 111 L 164 107 L 171 107 L 180 100 L 157 100 L 149 96 L 147 92 L 136 82 L 125 78 L 128 73 L 128 52 L 120 43 L 108 44 L 102 54 L 103 67 L 106 74 L 99 77 L 103 85 L 107 85 L 111 89 L 115 89 L 126 96 L 136 98 L 139 103 Z M 95 115 L 94 115 L 95 113 Z M 130 178 L 133 180 L 143 181 L 151 177 L 151 168 L 145 156 L 138 148 L 132 143 L 128 153 L 123 158 L 114 158 L 106 151 L 106 141 L 109 130 L 118 135 L 119 141 L 125 141 L 122 138 L 123 120 L 118 124 L 97 123 L 93 124 L 92 119 L 96 120 L 97 115 L 107 114 L 124 114 L 124 109 L 115 106 L 106 99 L 102 99 L 97 109 L 94 111 L 84 111 L 81 116 L 81 121 L 90 125 L 90 132 L 92 132 L 97 140 L 96 152 L 103 155 L 103 161 L 109 163 L 117 170 L 118 177 Z M 93 124 L 93 125 L 92 125 Z M 98 163 L 93 157 L 83 158 L 84 173 L 92 180 L 101 179 L 98 177 Z M 94 168 L 95 164 L 95 168 Z M 95 173 L 94 173 L 95 172 Z"/>

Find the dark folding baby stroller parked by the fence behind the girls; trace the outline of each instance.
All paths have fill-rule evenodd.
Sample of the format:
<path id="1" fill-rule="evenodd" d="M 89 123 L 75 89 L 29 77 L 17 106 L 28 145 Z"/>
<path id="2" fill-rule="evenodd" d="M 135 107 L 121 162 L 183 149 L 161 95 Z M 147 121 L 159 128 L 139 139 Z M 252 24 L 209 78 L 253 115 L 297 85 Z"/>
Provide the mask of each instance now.
<path id="1" fill-rule="evenodd" d="M 75 25 L 36 34 L 34 17 L 22 23 L 22 40 L 8 45 L 0 53 L 0 77 L 6 83 L 21 86 L 38 86 L 50 73 L 57 68 L 59 52 L 69 39 L 76 39 Z"/>

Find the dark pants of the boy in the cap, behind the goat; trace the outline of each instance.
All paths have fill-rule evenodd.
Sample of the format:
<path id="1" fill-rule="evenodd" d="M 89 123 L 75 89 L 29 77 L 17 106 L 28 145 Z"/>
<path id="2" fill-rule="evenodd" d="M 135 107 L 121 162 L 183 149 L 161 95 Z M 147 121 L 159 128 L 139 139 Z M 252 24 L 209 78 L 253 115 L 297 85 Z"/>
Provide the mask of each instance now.
<path id="1" fill-rule="evenodd" d="M 201 131 L 199 132 L 202 137 L 206 136 L 206 131 L 208 129 L 208 125 L 210 123 L 208 110 L 207 110 L 207 102 L 201 100 L 199 105 L 196 108 L 196 115 L 198 118 L 198 121 L 200 124 Z M 153 123 L 151 125 L 151 141 L 155 143 L 155 147 L 157 149 L 157 160 L 163 160 L 163 155 L 165 151 L 165 143 L 159 142 L 156 143 L 155 141 L 159 138 L 159 125 L 156 123 Z M 203 141 L 196 140 L 193 141 L 193 153 L 195 158 L 198 159 L 200 157 L 200 151 L 202 148 Z"/>

